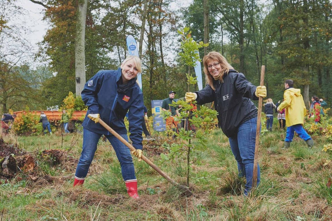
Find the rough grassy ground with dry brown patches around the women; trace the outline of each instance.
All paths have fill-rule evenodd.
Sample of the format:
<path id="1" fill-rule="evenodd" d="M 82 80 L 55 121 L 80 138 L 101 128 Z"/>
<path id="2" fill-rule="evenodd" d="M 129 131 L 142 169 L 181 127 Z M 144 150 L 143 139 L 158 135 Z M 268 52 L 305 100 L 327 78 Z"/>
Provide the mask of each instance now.
<path id="1" fill-rule="evenodd" d="M 295 138 L 289 150 L 281 150 L 285 131 L 261 136 L 261 183 L 250 196 L 241 194 L 245 180 L 237 176 L 237 164 L 228 139 L 212 131 L 207 146 L 192 153 L 190 189 L 185 197 L 145 162 L 134 159 L 139 199 L 131 199 L 119 162 L 108 142 L 99 141 L 83 186 L 72 187 L 82 148 L 82 135 L 6 136 L 34 156 L 36 167 L 0 184 L 1 220 L 332 220 L 332 151 L 323 152 L 325 137 L 313 137 L 315 147 Z M 163 134 L 144 141 L 143 153 L 174 180 L 186 183 L 186 157 L 164 161 L 168 140 Z M 40 153 L 62 150 L 55 162 Z"/>

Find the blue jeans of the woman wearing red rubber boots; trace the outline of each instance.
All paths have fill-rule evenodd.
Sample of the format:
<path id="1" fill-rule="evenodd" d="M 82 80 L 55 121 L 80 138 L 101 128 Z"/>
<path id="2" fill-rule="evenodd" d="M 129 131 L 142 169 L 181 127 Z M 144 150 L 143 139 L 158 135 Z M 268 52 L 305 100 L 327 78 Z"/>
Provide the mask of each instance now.
<path id="1" fill-rule="evenodd" d="M 80 160 L 78 161 L 75 176 L 78 178 L 85 178 L 88 174 L 89 167 L 95 156 L 97 150 L 97 143 L 101 134 L 94 133 L 87 129 L 83 129 L 83 149 Z M 134 164 L 130 155 L 130 150 L 118 138 L 113 135 L 104 135 L 110 141 L 115 153 L 118 157 L 121 166 L 122 177 L 125 180 L 136 179 Z M 126 134 L 120 134 L 126 141 L 128 137 Z"/>

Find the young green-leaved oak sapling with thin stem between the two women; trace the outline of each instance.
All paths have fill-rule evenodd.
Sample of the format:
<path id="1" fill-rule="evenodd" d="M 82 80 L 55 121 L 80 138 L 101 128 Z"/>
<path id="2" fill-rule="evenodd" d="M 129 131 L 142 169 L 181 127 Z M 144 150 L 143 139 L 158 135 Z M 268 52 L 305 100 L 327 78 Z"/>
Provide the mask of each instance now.
<path id="1" fill-rule="evenodd" d="M 198 49 L 202 47 L 207 47 L 208 44 L 203 42 L 195 42 L 191 37 L 191 31 L 188 27 L 185 27 L 182 30 L 178 30 L 178 33 L 181 35 L 181 52 L 179 56 L 184 60 L 184 63 L 189 66 L 188 73 L 186 73 L 188 92 L 189 86 L 197 84 L 197 79 L 190 73 L 190 67 L 196 65 L 196 61 L 201 61 Z M 192 102 L 193 105 L 196 105 L 196 101 Z M 172 144 L 170 146 L 170 151 L 168 155 L 162 155 L 163 160 L 174 160 L 177 157 L 180 157 L 182 153 L 187 153 L 187 186 L 189 187 L 189 174 L 190 174 L 190 153 L 191 150 L 195 148 L 195 145 L 191 142 L 191 139 L 195 139 L 195 143 L 200 143 L 202 145 L 206 144 L 206 135 L 207 135 L 207 126 L 213 124 L 213 119 L 216 117 L 217 112 L 211 110 L 205 106 L 202 106 L 199 110 L 193 111 L 193 106 L 190 103 L 187 103 L 184 100 L 178 100 L 170 104 L 171 106 L 181 105 L 179 111 L 180 116 L 174 117 L 175 121 L 185 120 L 188 121 L 185 123 L 185 128 L 181 128 L 179 133 L 175 135 L 178 139 L 181 139 L 180 144 Z M 192 114 L 193 112 L 193 114 Z M 162 111 L 161 116 L 166 120 L 170 116 L 169 111 Z M 196 133 L 190 130 L 191 125 L 200 127 L 200 130 Z M 173 132 L 174 133 L 174 132 Z M 197 140 L 197 141 L 196 141 Z"/>

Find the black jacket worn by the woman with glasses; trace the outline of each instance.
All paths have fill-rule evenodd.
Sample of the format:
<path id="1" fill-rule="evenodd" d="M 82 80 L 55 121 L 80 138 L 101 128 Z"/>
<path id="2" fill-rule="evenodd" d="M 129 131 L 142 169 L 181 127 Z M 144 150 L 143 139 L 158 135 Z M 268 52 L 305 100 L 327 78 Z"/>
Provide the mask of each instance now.
<path id="1" fill-rule="evenodd" d="M 202 90 L 196 91 L 196 101 L 198 104 L 214 101 L 221 130 L 227 137 L 232 137 L 237 133 L 241 124 L 257 117 L 257 108 L 250 100 L 258 100 L 255 95 L 257 87 L 250 83 L 242 73 L 237 73 L 232 69 L 224 75 L 223 80 L 223 83 L 213 80 L 215 90 L 212 90 L 207 84 Z"/>

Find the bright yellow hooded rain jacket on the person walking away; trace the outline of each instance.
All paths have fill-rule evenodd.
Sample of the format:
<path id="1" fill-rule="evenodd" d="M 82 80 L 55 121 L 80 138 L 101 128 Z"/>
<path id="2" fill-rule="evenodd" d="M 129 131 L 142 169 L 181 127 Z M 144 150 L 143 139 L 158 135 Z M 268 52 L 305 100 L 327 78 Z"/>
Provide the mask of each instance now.
<path id="1" fill-rule="evenodd" d="M 285 90 L 284 101 L 279 105 L 278 110 L 284 108 L 287 127 L 304 123 L 306 109 L 300 89 L 290 87 Z"/>

